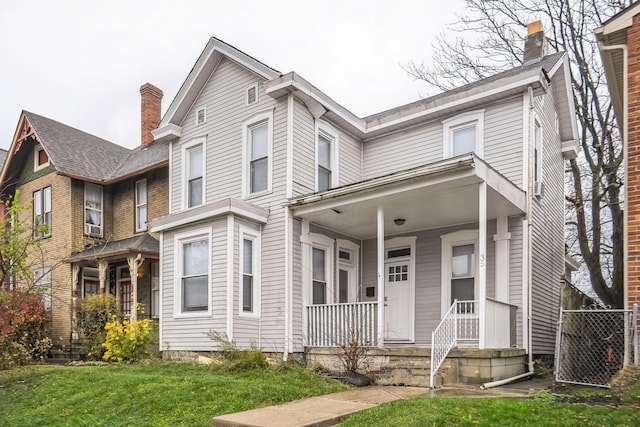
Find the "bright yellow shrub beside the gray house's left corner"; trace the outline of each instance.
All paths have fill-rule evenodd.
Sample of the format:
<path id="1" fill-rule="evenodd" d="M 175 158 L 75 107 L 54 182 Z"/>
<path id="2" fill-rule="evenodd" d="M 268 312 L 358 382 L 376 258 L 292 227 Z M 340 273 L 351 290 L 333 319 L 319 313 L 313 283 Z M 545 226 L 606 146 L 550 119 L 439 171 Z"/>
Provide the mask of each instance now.
<path id="1" fill-rule="evenodd" d="M 105 326 L 107 337 L 102 358 L 106 361 L 137 361 L 153 355 L 156 327 L 149 319 L 118 322 L 113 317 Z"/>

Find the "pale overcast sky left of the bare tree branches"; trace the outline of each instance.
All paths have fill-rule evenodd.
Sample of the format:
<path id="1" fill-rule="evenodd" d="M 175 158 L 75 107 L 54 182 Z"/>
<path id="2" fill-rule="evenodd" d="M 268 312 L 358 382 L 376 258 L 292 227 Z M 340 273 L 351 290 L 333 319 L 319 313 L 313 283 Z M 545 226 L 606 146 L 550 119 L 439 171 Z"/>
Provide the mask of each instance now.
<path id="1" fill-rule="evenodd" d="M 140 142 L 140 93 L 169 106 L 215 36 L 359 116 L 432 95 L 400 68 L 428 60 L 463 0 L 0 1 L 0 148 L 24 109 Z"/>

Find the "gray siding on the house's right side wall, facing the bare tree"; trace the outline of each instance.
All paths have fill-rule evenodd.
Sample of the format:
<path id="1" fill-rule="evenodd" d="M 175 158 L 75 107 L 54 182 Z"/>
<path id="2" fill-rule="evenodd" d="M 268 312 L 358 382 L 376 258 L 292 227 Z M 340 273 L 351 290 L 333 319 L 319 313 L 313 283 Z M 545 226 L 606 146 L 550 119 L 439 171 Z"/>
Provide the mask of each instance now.
<path id="1" fill-rule="evenodd" d="M 552 91 L 535 101 L 544 136 L 544 196 L 532 201 L 532 346 L 534 354 L 553 354 L 564 273 L 564 160 Z"/>

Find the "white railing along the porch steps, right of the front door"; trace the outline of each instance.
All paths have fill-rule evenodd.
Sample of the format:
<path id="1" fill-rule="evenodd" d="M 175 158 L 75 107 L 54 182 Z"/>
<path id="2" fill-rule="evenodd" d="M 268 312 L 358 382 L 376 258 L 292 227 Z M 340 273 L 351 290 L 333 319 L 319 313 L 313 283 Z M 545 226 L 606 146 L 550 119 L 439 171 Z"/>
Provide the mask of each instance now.
<path id="1" fill-rule="evenodd" d="M 438 327 L 431 333 L 429 387 L 435 386 L 436 372 L 458 343 L 473 345 L 480 336 L 478 301 L 454 301 Z"/>

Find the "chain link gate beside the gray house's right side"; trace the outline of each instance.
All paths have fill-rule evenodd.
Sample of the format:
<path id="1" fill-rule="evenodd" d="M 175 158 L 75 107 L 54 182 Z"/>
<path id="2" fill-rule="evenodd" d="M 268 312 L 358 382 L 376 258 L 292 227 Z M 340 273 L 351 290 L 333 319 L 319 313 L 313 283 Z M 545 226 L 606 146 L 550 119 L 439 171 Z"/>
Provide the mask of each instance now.
<path id="1" fill-rule="evenodd" d="M 628 360 L 633 360 L 636 325 L 637 306 L 633 311 L 560 309 L 555 381 L 610 387 L 611 378 L 624 365 L 625 347 Z"/>

